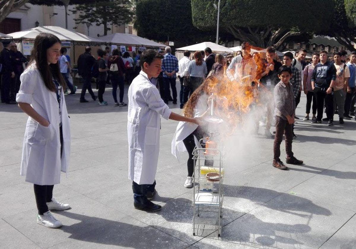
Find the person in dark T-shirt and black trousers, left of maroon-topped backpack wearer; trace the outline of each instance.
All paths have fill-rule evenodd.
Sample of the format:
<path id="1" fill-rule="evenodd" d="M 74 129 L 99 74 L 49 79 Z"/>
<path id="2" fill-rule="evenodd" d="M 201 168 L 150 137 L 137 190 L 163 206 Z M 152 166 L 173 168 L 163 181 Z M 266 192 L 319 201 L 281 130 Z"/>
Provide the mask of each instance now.
<path id="1" fill-rule="evenodd" d="M 108 77 L 108 71 L 109 71 L 109 69 L 106 67 L 105 64 L 105 60 L 108 59 L 108 54 L 102 49 L 98 49 L 97 53 L 99 56 L 99 59 L 96 62 L 99 71 L 98 78 L 97 78 L 99 105 L 106 106 L 108 105 L 108 102 L 104 101 L 103 94 L 105 92 L 106 78 Z"/>

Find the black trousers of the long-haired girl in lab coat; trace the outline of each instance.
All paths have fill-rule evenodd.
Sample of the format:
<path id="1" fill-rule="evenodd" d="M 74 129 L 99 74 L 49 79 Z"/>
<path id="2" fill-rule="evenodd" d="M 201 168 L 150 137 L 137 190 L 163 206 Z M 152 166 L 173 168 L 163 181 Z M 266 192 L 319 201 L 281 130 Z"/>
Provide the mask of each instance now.
<path id="1" fill-rule="evenodd" d="M 63 132 L 62 126 L 59 127 L 59 141 L 61 142 L 61 158 L 63 150 Z M 36 206 L 38 214 L 43 215 L 48 211 L 47 203 L 52 201 L 54 185 L 37 185 L 33 184 L 33 190 L 35 191 Z"/>

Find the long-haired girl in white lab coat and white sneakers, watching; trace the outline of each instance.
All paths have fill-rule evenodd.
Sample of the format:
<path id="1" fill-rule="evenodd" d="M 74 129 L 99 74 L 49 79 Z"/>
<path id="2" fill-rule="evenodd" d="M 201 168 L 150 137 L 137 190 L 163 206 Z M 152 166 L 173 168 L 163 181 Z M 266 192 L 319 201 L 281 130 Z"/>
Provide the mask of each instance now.
<path id="1" fill-rule="evenodd" d="M 21 74 L 19 107 L 29 116 L 23 139 L 20 174 L 33 183 L 38 209 L 37 223 L 49 228 L 62 223 L 49 210 L 66 210 L 68 204 L 52 196 L 61 171 L 67 172 L 70 154 L 70 129 L 59 70 L 61 41 L 41 33 L 35 39 L 31 61 Z"/>

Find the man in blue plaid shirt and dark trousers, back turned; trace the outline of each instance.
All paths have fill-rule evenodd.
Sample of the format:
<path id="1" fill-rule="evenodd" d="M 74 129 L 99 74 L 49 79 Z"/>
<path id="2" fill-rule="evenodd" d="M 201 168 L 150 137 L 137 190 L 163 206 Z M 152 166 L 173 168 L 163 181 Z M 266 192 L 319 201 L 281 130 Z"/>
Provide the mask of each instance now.
<path id="1" fill-rule="evenodd" d="M 176 88 L 176 73 L 178 72 L 178 59 L 171 54 L 171 47 L 164 49 L 166 54 L 162 59 L 162 72 L 163 72 L 163 88 L 164 98 L 163 101 L 168 104 L 168 100 L 171 97 L 171 91 L 169 85 L 172 88 L 173 104 L 177 104 L 177 88 Z"/>

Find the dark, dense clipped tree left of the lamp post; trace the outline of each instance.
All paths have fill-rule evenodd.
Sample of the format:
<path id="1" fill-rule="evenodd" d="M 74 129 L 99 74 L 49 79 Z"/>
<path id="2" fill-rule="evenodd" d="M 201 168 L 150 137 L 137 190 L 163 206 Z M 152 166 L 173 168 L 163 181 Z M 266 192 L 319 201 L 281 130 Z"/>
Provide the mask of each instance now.
<path id="1" fill-rule="evenodd" d="M 213 41 L 214 32 L 193 26 L 191 0 L 140 0 L 136 5 L 137 34 L 156 41 L 174 41 L 175 47 Z"/>

